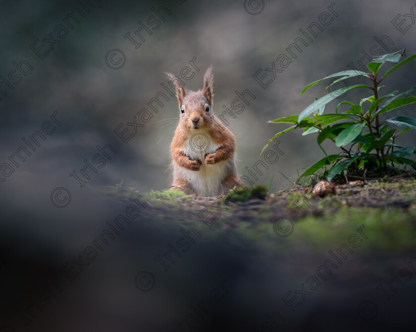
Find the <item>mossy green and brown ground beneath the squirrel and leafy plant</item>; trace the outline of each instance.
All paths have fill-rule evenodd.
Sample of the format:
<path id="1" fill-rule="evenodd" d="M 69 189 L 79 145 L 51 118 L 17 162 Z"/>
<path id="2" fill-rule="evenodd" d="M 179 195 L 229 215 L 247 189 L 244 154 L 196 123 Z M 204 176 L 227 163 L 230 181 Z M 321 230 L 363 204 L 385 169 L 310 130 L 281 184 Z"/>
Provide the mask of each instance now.
<path id="1" fill-rule="evenodd" d="M 192 227 L 215 241 L 227 238 L 232 243 L 276 252 L 281 246 L 318 248 L 347 241 L 364 224 L 370 251 L 416 249 L 415 179 L 349 182 L 337 185 L 335 195 L 319 199 L 313 199 L 310 191 L 309 187 L 295 187 L 266 195 L 266 188 L 255 186 L 222 198 L 206 198 L 185 195 L 177 189 L 150 193 L 120 185 L 103 189 L 121 200 L 142 195 L 140 202 L 146 207 L 143 222 L 172 231 Z M 285 227 L 290 226 L 289 220 L 293 222 L 290 236 L 276 233 L 279 218 L 286 218 Z"/>

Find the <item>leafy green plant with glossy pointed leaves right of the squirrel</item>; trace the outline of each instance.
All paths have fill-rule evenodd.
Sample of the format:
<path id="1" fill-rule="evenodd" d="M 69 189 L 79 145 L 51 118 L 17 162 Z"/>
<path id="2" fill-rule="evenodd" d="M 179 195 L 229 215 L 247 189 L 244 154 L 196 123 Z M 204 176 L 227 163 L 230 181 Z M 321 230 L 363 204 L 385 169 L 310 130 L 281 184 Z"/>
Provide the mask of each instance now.
<path id="1" fill-rule="evenodd" d="M 367 65 L 370 71 L 368 73 L 346 70 L 329 75 L 307 85 L 302 90 L 301 94 L 322 80 L 338 78 L 325 88 L 325 94 L 325 91 L 328 88 L 340 81 L 362 76 L 368 79 L 370 84 L 349 85 L 347 86 L 348 90 L 356 88 L 368 89 L 372 94 L 362 99 L 359 104 L 354 104 L 347 100 L 341 101 L 335 107 L 334 113 L 323 114 L 325 105 L 337 98 L 340 93 L 345 92 L 345 88 L 337 89 L 329 94 L 325 94 L 320 99 L 315 98 L 315 101 L 303 110 L 299 116 L 293 115 L 269 121 L 268 123 L 287 123 L 293 125 L 275 134 L 274 137 L 268 141 L 261 153 L 267 145 L 278 136 L 292 129 L 304 128 L 303 135 L 308 135 L 313 132 L 318 133 L 317 143 L 325 154 L 325 157 L 306 169 L 295 183 L 298 183 L 324 167 L 324 177 L 329 181 L 331 181 L 335 175 L 343 172 L 343 170 L 347 170 L 347 174 L 359 174 L 364 170 L 371 170 L 374 174 L 384 174 L 389 170 L 397 171 L 397 165 L 406 164 L 415 168 L 416 162 L 407 158 L 412 153 L 415 153 L 415 147 L 398 146 L 395 144 L 395 140 L 403 132 L 409 129 L 416 129 L 416 119 L 410 117 L 396 117 L 394 119 L 381 121 L 379 118 L 382 113 L 416 102 L 415 96 L 406 96 L 414 91 L 415 88 L 402 93 L 393 91 L 383 96 L 379 95 L 379 90 L 384 87 L 384 85 L 380 85 L 380 83 L 386 76 L 395 69 L 416 58 L 415 54 L 406 60 L 399 62 L 401 57 L 405 55 L 405 50 L 385 54 L 374 58 L 373 61 Z M 393 62 L 396 63 L 396 65 L 390 68 L 381 78 L 378 78 L 379 70 L 386 62 Z M 338 108 L 342 104 L 350 105 L 350 108 L 343 113 L 338 113 Z M 338 123 L 334 124 L 335 122 Z M 396 134 L 396 128 L 389 129 L 387 122 L 405 128 Z M 342 151 L 339 154 L 327 155 L 321 145 L 326 139 L 334 142 Z M 329 170 L 326 170 L 327 165 L 331 165 Z"/>

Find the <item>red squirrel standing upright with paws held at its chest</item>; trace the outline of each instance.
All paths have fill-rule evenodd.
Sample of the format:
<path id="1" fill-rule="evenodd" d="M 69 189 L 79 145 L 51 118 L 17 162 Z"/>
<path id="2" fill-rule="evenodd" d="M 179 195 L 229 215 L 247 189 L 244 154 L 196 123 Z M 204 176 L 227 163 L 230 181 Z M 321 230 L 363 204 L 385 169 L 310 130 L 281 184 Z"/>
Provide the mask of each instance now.
<path id="1" fill-rule="evenodd" d="M 173 74 L 166 75 L 179 103 L 179 124 L 170 145 L 172 186 L 188 195 L 223 195 L 239 180 L 235 137 L 212 113 L 212 66 L 204 75 L 202 91 L 185 90 Z"/>

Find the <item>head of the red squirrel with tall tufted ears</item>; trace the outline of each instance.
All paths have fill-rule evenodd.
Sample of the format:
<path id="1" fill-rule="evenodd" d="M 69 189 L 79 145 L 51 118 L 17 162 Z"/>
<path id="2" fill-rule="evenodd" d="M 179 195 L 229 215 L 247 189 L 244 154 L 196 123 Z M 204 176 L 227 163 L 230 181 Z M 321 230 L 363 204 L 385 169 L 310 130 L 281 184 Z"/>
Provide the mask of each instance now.
<path id="1" fill-rule="evenodd" d="M 187 130 L 209 129 L 212 126 L 212 66 L 204 75 L 204 88 L 198 91 L 185 90 L 180 80 L 171 73 L 166 73 L 176 89 L 179 103 L 179 125 Z"/>

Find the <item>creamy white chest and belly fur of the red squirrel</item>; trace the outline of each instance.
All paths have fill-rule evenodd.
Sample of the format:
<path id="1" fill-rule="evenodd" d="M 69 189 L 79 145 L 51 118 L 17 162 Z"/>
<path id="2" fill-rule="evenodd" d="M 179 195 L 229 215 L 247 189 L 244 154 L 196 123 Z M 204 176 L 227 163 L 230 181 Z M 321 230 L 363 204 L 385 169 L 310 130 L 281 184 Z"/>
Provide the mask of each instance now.
<path id="1" fill-rule="evenodd" d="M 216 196 L 220 192 L 221 181 L 224 178 L 227 161 L 221 161 L 216 164 L 205 164 L 205 156 L 214 153 L 219 148 L 212 142 L 208 134 L 195 131 L 191 135 L 182 150 L 192 160 L 201 161 L 201 167 L 198 171 L 178 167 L 181 176 L 192 184 L 197 194 L 203 196 Z"/>

